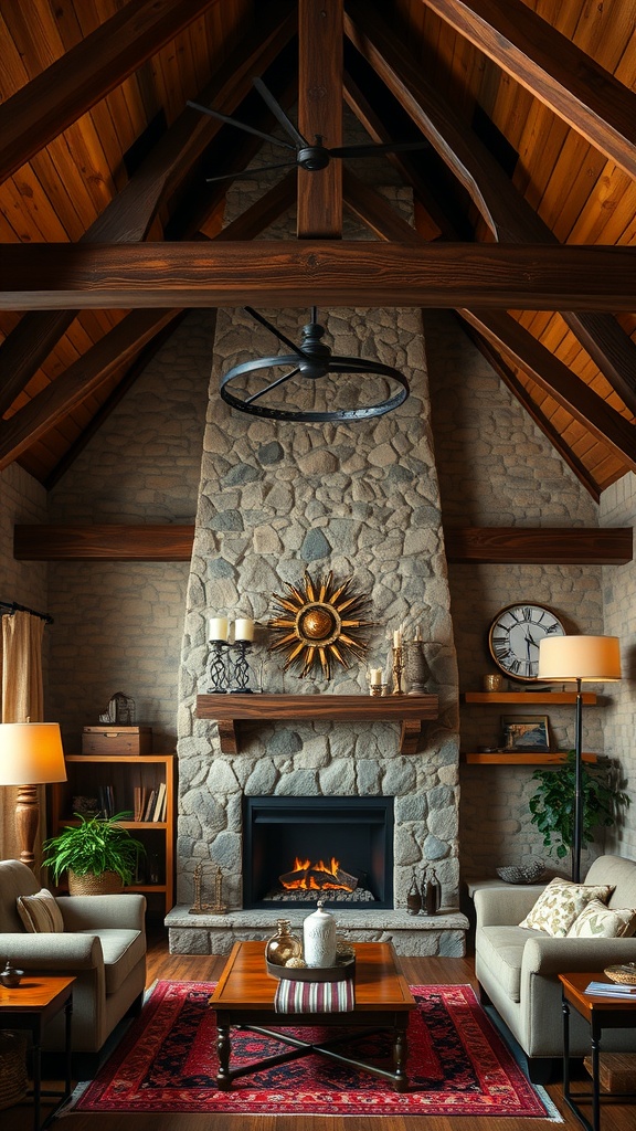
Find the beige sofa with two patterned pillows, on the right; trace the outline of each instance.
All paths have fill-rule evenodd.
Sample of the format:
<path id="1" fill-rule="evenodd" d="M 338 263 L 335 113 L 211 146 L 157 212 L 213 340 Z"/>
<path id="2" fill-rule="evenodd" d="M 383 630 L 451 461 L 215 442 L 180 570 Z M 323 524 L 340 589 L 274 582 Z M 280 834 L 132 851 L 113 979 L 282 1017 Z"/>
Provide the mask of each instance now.
<path id="1" fill-rule="evenodd" d="M 585 881 L 612 884 L 608 906 L 636 908 L 636 862 L 600 856 Z M 559 974 L 600 973 L 617 962 L 636 961 L 636 938 L 567 939 L 518 926 L 544 889 L 539 886 L 484 887 L 474 892 L 475 974 L 482 1000 L 492 1003 L 528 1061 L 535 1082 L 549 1079 L 562 1055 Z M 607 1030 L 602 1047 L 636 1052 L 636 1030 Z M 590 1028 L 571 1011 L 570 1051 L 590 1052 Z"/>

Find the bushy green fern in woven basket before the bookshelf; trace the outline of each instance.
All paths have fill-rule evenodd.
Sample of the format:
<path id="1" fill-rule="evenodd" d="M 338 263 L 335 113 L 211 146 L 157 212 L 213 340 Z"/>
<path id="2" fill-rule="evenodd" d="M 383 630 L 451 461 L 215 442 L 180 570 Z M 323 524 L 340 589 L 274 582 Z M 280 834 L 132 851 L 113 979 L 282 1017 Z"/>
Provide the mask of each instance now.
<path id="1" fill-rule="evenodd" d="M 44 861 L 53 871 L 55 883 L 68 872 L 71 896 L 121 891 L 130 883 L 145 847 L 120 821 L 130 813 L 113 817 L 84 817 L 75 813 L 79 823 L 67 824 L 44 841 Z"/>

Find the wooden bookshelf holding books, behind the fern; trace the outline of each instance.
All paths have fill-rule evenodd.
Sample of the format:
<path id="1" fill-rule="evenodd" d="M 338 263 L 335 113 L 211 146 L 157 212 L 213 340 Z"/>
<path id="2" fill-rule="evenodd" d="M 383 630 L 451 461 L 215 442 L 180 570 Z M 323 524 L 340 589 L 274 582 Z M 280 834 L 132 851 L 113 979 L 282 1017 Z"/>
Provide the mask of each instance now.
<path id="1" fill-rule="evenodd" d="M 136 800 L 145 797 L 144 818 L 122 821 L 146 846 L 140 872 L 127 891 L 143 891 L 151 910 L 161 900 L 165 914 L 174 904 L 174 769 L 173 754 L 67 754 L 67 782 L 57 782 L 50 789 L 50 836 L 66 824 L 77 823 L 74 818 L 74 797 L 111 797 L 114 813 L 122 811 L 135 815 Z M 157 794 L 164 796 L 161 820 Z M 143 794 L 140 793 L 143 792 Z M 148 810 L 151 793 L 154 803 Z M 137 805 L 138 808 L 138 805 Z M 146 811 L 148 817 L 146 819 Z M 137 813 L 137 817 L 139 814 Z"/>

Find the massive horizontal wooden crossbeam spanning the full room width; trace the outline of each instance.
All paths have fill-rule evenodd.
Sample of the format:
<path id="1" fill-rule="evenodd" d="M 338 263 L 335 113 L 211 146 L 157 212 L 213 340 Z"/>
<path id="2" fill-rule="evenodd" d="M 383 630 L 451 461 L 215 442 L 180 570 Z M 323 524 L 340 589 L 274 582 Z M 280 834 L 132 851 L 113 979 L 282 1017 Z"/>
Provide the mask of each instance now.
<path id="1" fill-rule="evenodd" d="M 6 244 L 0 309 L 636 310 L 636 249 L 255 240 Z"/>

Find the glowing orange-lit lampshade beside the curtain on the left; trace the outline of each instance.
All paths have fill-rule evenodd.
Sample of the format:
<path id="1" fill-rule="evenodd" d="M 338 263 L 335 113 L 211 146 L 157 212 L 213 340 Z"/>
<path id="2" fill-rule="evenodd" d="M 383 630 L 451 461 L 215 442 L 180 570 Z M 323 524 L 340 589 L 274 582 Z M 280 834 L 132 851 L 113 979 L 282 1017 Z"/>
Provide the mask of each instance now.
<path id="1" fill-rule="evenodd" d="M 59 723 L 0 723 L 0 785 L 66 779 Z"/>

